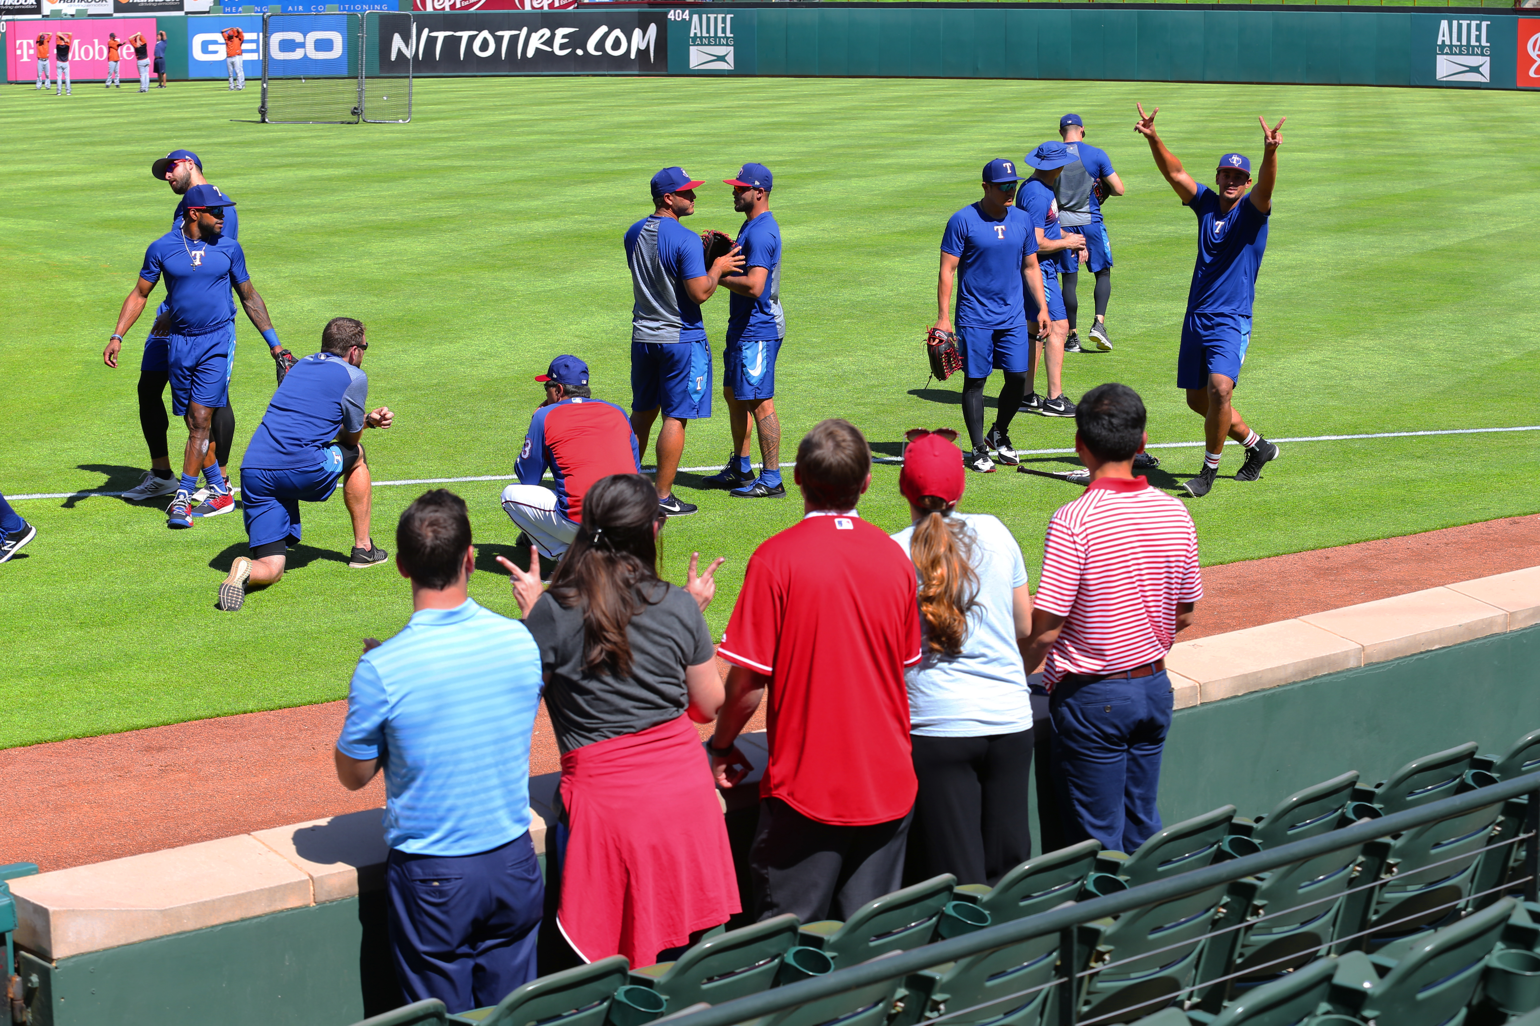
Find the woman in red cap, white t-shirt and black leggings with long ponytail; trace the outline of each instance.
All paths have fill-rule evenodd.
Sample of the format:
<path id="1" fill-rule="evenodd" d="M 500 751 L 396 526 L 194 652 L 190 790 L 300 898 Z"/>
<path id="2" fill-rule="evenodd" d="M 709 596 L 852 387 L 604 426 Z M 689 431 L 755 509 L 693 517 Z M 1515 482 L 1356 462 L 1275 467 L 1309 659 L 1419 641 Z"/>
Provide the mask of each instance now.
<path id="1" fill-rule="evenodd" d="M 996 517 L 958 512 L 956 432 L 910 431 L 898 488 L 913 526 L 893 535 L 919 577 L 924 658 L 907 671 L 919 795 L 906 880 L 950 872 L 993 886 L 1032 855 L 1032 700 L 1021 646 L 1032 594 Z"/>

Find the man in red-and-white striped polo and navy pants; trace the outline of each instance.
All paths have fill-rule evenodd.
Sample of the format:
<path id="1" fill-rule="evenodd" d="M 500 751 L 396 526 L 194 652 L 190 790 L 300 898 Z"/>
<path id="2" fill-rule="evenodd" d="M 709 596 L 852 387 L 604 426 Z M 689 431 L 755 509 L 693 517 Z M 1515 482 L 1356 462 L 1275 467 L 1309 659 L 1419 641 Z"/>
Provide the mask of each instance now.
<path id="1" fill-rule="evenodd" d="M 1075 428 L 1090 486 L 1049 520 L 1026 661 L 1047 655 L 1066 843 L 1093 838 L 1132 852 L 1161 826 L 1166 652 L 1203 598 L 1198 535 L 1177 498 L 1133 477 L 1147 441 L 1133 389 L 1092 389 Z"/>

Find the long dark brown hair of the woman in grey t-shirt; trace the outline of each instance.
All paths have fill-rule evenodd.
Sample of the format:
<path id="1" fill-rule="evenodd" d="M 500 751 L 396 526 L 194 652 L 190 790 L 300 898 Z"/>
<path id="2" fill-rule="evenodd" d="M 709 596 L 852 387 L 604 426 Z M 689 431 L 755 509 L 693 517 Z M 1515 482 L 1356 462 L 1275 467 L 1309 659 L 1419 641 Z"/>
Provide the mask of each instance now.
<path id="1" fill-rule="evenodd" d="M 625 628 L 645 606 L 662 601 L 658 588 L 658 489 L 641 474 L 599 478 L 582 500 L 582 525 L 551 577 L 550 597 L 582 605 L 588 672 L 631 674 Z"/>

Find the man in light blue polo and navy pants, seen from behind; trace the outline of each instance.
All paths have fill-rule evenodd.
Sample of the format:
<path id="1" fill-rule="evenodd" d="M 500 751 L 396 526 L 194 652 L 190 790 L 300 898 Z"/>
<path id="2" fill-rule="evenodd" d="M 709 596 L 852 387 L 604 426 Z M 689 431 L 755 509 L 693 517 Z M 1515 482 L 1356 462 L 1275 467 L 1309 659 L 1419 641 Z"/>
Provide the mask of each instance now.
<path id="1" fill-rule="evenodd" d="M 545 886 L 530 841 L 530 734 L 541 652 L 528 629 L 467 597 L 465 501 L 442 488 L 407 508 L 396 566 L 413 615 L 365 641 L 337 738 L 350 791 L 385 765 L 391 961 L 408 1001 L 496 1004 L 534 978 Z"/>

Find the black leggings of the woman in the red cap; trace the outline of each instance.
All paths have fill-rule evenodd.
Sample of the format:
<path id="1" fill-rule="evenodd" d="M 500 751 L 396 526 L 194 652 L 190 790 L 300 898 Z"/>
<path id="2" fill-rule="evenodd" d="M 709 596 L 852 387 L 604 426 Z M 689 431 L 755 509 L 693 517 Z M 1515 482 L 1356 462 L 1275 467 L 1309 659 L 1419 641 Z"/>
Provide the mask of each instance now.
<path id="1" fill-rule="evenodd" d="M 912 734 L 910 741 L 919 794 L 906 884 L 950 872 L 958 883 L 995 886 L 1032 858 L 1032 728 L 989 737 Z"/>

